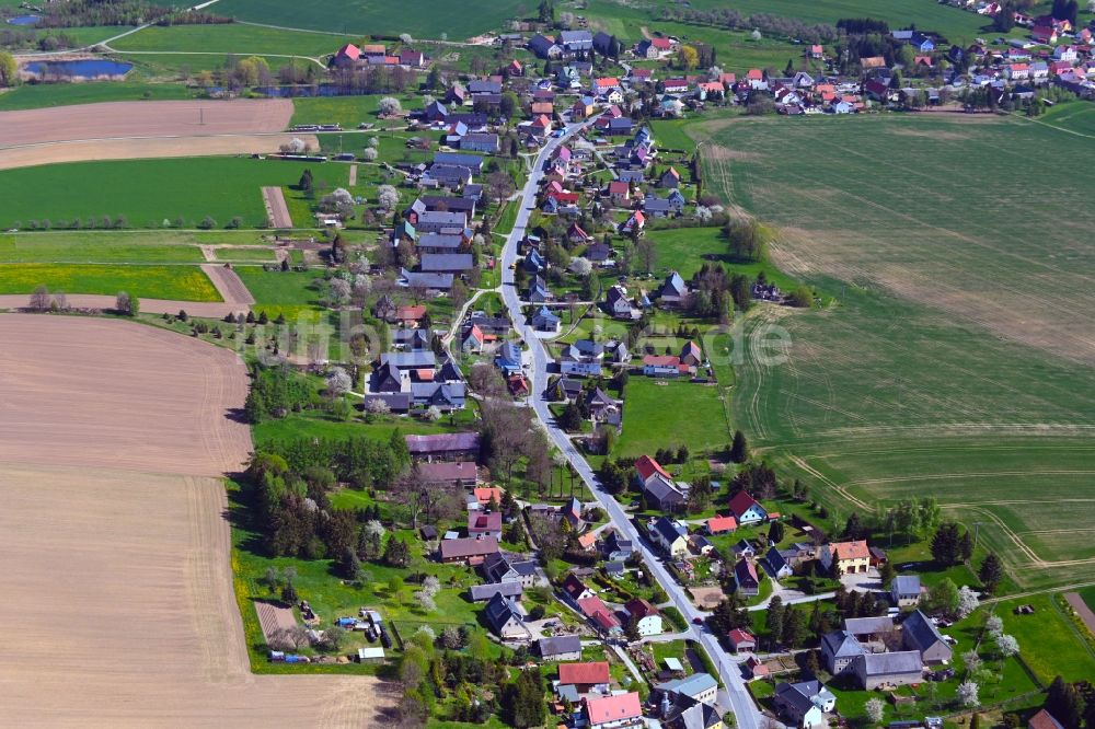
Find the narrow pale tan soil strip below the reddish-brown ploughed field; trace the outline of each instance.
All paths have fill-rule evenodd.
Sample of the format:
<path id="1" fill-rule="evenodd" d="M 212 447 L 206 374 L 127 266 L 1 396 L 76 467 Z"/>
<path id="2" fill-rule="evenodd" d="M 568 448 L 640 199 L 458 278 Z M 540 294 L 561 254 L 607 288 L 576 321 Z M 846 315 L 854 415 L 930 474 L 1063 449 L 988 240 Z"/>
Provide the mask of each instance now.
<path id="1" fill-rule="evenodd" d="M 0 125 L 2 124 L 3 121 L 0 119 Z M 89 160 L 142 160 L 206 154 L 252 154 L 256 152 L 266 154 L 278 151 L 281 144 L 288 143 L 295 137 L 313 148 L 319 148 L 319 141 L 314 135 L 286 134 L 42 142 L 13 149 L 0 148 L 0 170 Z"/>

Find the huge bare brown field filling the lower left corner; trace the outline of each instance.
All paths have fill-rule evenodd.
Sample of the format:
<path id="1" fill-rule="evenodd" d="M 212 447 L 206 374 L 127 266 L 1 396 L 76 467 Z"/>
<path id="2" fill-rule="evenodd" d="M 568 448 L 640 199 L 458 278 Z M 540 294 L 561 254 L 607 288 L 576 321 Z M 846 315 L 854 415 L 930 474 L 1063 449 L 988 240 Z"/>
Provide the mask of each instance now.
<path id="1" fill-rule="evenodd" d="M 0 706 L 14 727 L 362 727 L 366 676 L 250 673 L 217 477 L 235 356 L 113 320 L 0 315 Z"/>

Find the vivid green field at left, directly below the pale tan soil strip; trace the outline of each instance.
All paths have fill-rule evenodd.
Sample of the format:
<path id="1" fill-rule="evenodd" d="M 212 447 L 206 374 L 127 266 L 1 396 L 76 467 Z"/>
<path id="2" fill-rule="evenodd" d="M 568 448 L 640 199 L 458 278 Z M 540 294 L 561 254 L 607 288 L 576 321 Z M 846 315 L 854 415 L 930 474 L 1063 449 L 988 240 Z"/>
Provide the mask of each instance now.
<path id="1" fill-rule="evenodd" d="M 68 227 L 99 227 L 103 216 L 124 216 L 132 228 L 195 228 L 211 216 L 223 228 L 233 216 L 245 227 L 265 223 L 261 187 L 293 185 L 304 166 L 318 180 L 345 184 L 345 170 L 335 165 L 301 164 L 242 158 L 126 160 L 50 164 L 0 172 L 5 200 L 2 228 L 28 228 L 49 220 Z M 58 195 L 57 190 L 65 190 Z M 88 223 L 91 222 L 91 225 Z"/>

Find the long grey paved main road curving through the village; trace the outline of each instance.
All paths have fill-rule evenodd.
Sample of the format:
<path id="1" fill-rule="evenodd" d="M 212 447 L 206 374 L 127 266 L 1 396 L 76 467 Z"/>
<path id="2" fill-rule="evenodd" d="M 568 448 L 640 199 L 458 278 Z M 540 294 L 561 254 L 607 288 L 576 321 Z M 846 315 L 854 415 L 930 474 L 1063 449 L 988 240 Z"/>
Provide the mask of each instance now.
<path id="1" fill-rule="evenodd" d="M 721 692 L 718 699 L 719 705 L 734 713 L 737 719 L 736 726 L 739 727 L 739 729 L 759 729 L 763 719 L 757 710 L 752 698 L 750 698 L 748 692 L 746 691 L 745 681 L 741 678 L 741 671 L 737 661 L 729 653 L 727 653 L 722 646 L 718 645 L 718 640 L 705 627 L 693 624 L 693 621 L 696 617 L 704 617 L 707 613 L 698 610 L 695 605 L 692 604 L 692 601 L 688 598 L 684 589 L 669 575 L 665 566 L 661 564 L 658 555 L 654 553 L 648 544 L 639 539 L 637 530 L 631 523 L 627 514 L 620 507 L 620 504 L 612 497 L 611 494 L 601 490 L 592 468 L 590 468 L 585 458 L 583 458 L 577 449 L 575 449 L 574 443 L 570 442 L 570 439 L 566 436 L 566 433 L 555 425 L 554 418 L 548 409 L 548 402 L 543 396 L 548 386 L 548 354 L 544 350 L 542 343 L 535 336 L 521 313 L 521 302 L 518 299 L 518 291 L 514 286 L 514 270 L 510 269 L 510 265 L 517 262 L 517 244 L 525 236 L 525 230 L 529 222 L 529 215 L 535 206 L 535 195 L 540 181 L 543 178 L 544 162 L 549 160 L 552 152 L 554 152 L 560 144 L 565 142 L 566 139 L 574 134 L 581 130 L 583 127 L 592 124 L 593 120 L 596 120 L 596 117 L 588 119 L 583 124 L 568 125 L 564 137 L 552 138 L 546 144 L 544 144 L 543 149 L 537 155 L 534 169 L 529 174 L 528 182 L 521 192 L 521 209 L 517 213 L 514 230 L 509 234 L 509 238 L 506 241 L 506 246 L 503 248 L 502 253 L 503 300 L 509 309 L 517 333 L 525 339 L 526 343 L 528 343 L 531 350 L 528 374 L 531 380 L 533 394 L 529 401 L 535 409 L 537 415 L 540 417 L 540 420 L 544 424 L 549 437 L 570 462 L 575 471 L 581 476 L 583 481 L 586 482 L 590 493 L 609 516 L 609 520 L 612 525 L 634 540 L 635 544 L 639 546 L 643 557 L 646 560 L 647 568 L 661 585 L 662 589 L 669 595 L 670 601 L 677 606 L 678 610 L 680 610 L 684 620 L 689 622 L 690 627 L 688 636 L 699 641 L 714 661 L 719 676 L 726 686 L 726 691 Z"/>

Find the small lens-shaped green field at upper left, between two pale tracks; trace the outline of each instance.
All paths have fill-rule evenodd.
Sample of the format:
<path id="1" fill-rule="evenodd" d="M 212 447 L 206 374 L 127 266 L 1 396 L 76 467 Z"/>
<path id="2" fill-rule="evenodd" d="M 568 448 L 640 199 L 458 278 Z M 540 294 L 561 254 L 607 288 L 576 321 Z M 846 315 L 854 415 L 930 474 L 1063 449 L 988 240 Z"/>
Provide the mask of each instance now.
<path id="1" fill-rule="evenodd" d="M 306 56 L 319 58 L 333 54 L 346 43 L 360 40 L 307 31 L 283 31 L 258 25 L 151 26 L 111 44 L 117 50 L 162 50 L 234 54 L 237 56 Z"/>

